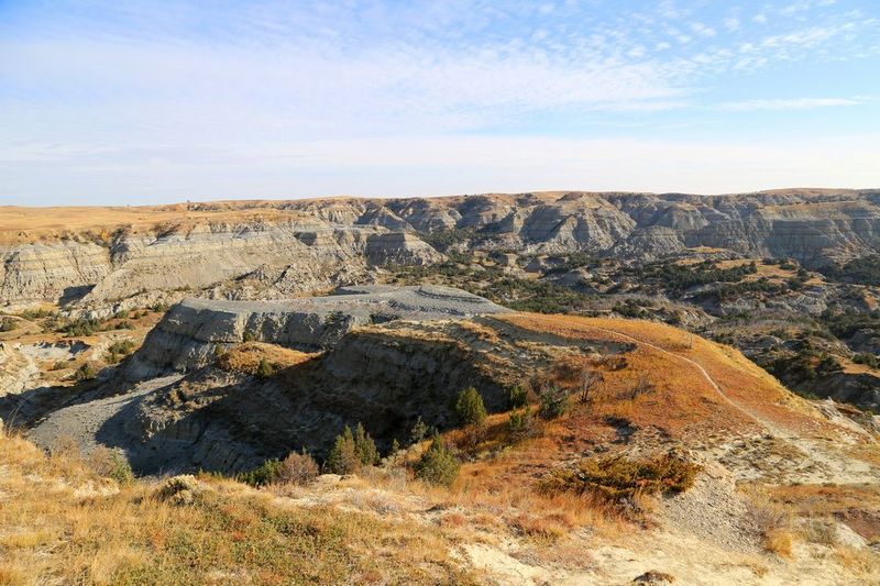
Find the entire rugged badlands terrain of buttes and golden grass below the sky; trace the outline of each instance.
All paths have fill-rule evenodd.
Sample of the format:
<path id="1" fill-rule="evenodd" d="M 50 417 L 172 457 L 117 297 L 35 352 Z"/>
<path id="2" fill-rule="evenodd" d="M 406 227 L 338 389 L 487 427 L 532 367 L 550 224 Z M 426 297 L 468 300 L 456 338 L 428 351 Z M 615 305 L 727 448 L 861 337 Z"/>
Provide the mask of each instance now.
<path id="1" fill-rule="evenodd" d="M 0 583 L 880 583 L 880 190 L 6 207 L 0 257 Z"/>

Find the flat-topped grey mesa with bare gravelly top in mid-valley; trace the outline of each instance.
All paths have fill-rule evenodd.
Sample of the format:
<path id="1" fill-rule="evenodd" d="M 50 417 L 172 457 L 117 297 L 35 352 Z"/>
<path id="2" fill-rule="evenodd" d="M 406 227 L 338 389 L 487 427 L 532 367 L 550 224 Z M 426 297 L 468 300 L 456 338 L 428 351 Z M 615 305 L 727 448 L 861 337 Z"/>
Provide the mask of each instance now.
<path id="1" fill-rule="evenodd" d="M 315 352 L 336 344 L 355 325 L 508 311 L 461 289 L 439 286 L 343 287 L 337 295 L 283 301 L 185 299 L 147 334 L 125 374 L 145 378 L 193 371 L 209 364 L 218 352 L 246 341 Z"/>

